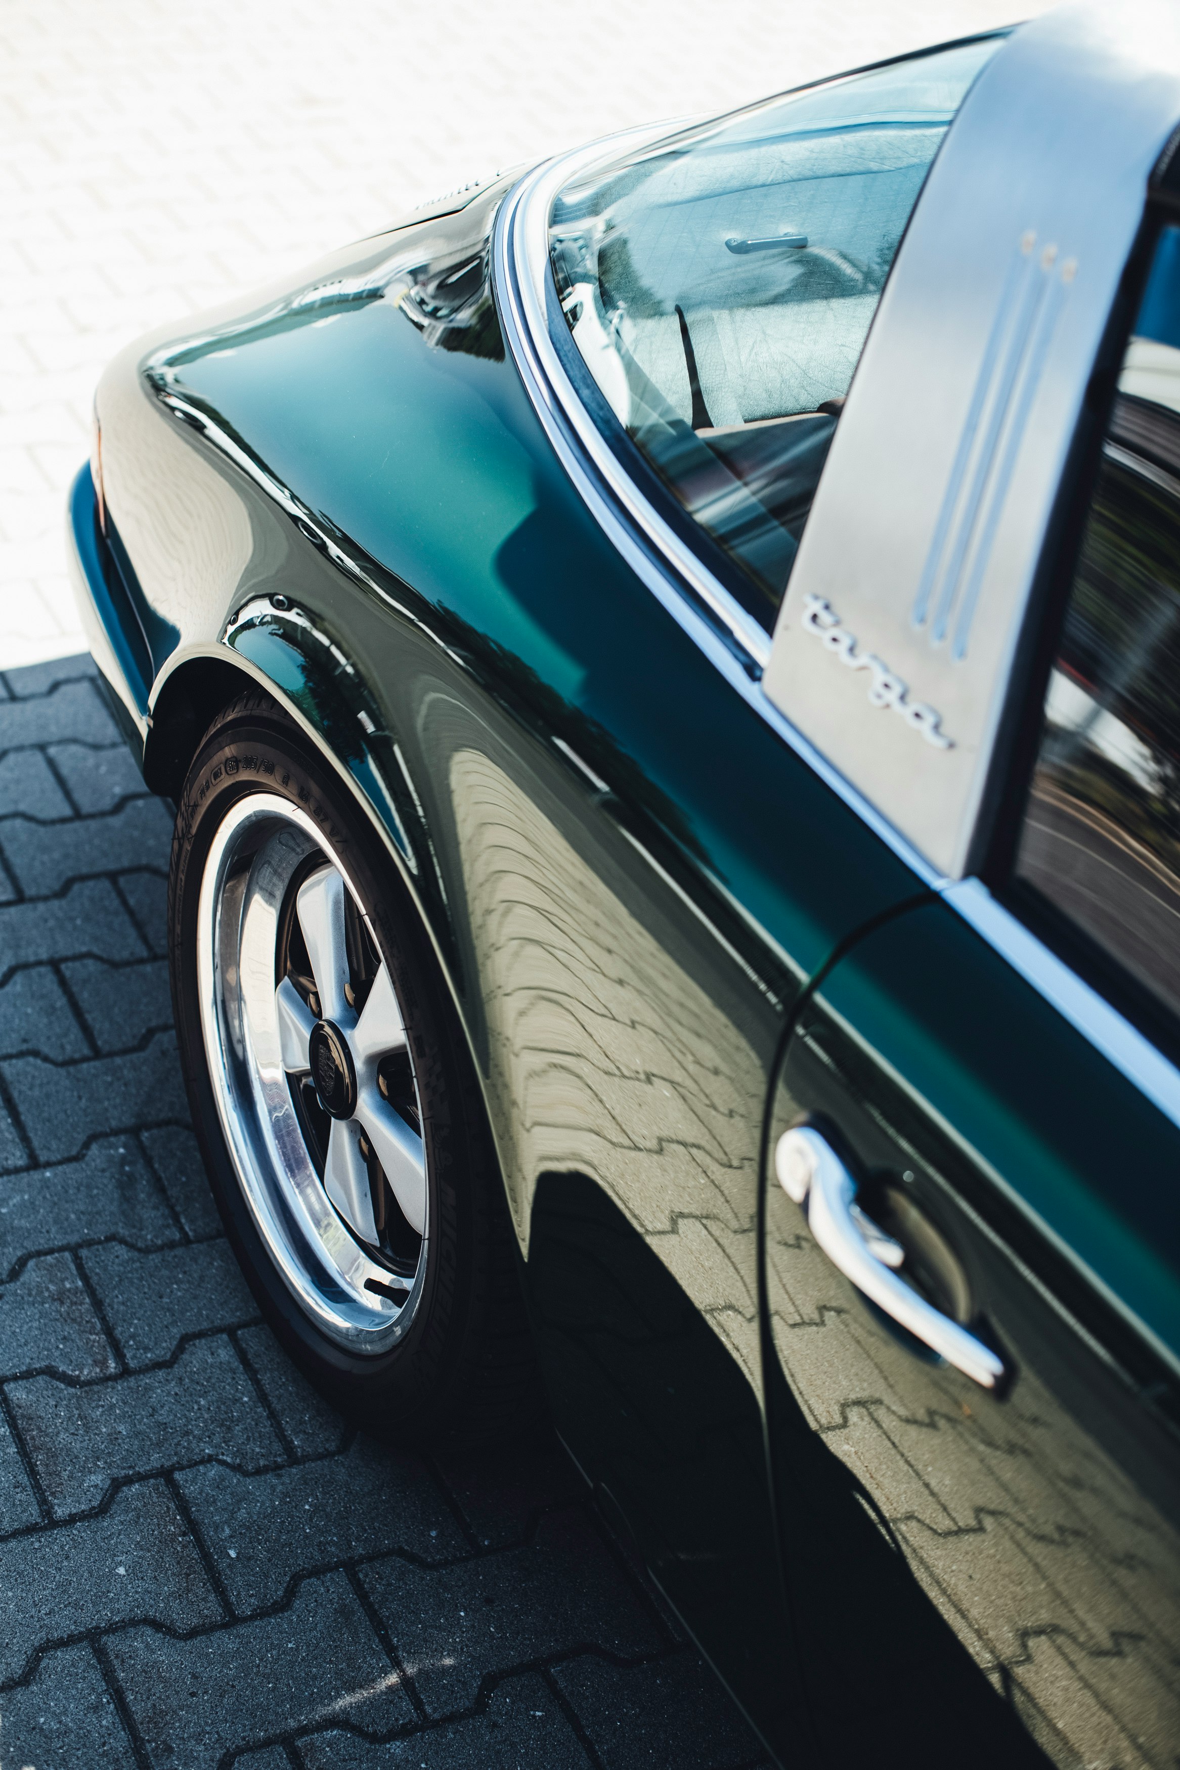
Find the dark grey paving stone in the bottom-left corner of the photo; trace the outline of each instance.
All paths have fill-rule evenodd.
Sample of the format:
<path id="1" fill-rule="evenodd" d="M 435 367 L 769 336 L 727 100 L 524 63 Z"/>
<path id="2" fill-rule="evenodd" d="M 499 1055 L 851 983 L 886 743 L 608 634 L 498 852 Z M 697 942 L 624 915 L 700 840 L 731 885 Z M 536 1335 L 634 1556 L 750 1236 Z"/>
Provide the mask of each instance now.
<path id="1" fill-rule="evenodd" d="M 134 1770 L 134 1749 L 92 1650 L 46 1653 L 32 1683 L 0 1696 L 5 1766 Z"/>

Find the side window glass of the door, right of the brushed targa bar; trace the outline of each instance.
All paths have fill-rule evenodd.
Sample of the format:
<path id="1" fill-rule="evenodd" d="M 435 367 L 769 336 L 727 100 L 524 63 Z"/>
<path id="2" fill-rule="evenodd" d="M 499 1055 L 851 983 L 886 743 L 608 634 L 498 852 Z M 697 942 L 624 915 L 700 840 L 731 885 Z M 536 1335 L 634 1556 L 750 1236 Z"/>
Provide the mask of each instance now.
<path id="1" fill-rule="evenodd" d="M 1017 880 L 1180 1012 L 1180 228 L 1155 246 L 1049 678 Z"/>

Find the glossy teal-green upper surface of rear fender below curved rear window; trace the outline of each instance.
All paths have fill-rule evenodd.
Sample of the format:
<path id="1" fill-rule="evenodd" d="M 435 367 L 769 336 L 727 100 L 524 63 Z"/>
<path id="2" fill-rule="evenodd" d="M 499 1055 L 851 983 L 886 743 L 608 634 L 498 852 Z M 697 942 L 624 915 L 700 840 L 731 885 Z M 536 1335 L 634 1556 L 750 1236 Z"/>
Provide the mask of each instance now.
<path id="1" fill-rule="evenodd" d="M 184 350 L 179 388 L 568 742 L 621 752 L 633 791 L 798 975 L 913 896 L 909 869 L 623 565 L 495 354 L 499 336 L 485 356 L 432 347 L 387 299 L 242 333 Z M 357 664 L 380 687 L 380 658 Z"/>

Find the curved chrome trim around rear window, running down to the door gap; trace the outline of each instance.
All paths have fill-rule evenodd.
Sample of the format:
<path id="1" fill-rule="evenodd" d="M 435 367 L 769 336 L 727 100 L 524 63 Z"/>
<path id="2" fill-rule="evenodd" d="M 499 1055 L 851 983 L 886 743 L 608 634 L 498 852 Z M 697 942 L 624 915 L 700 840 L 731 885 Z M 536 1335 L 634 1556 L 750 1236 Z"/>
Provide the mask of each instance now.
<path id="1" fill-rule="evenodd" d="M 610 136 L 607 142 L 577 149 L 545 161 L 513 186 L 499 207 L 492 235 L 492 290 L 504 342 L 564 473 L 632 572 L 706 653 L 731 689 L 819 775 L 824 786 L 844 800 L 862 823 L 916 874 L 922 885 L 938 889 L 945 883 L 943 874 L 831 766 L 814 743 L 808 743 L 762 692 L 759 678 L 770 657 L 770 634 L 685 547 L 633 485 L 582 405 L 548 336 L 545 280 L 552 274 L 548 267 L 548 212 L 554 196 L 577 170 L 591 166 L 607 154 L 617 154 L 628 142 L 642 145 L 662 140 L 670 133 L 670 127 L 674 126 L 665 122 L 658 129 L 632 129 Z M 644 542 L 651 545 L 644 545 Z M 681 582 L 674 573 L 679 573 Z M 701 605 L 715 616 L 724 632 L 718 632 L 718 625 L 706 618 Z M 724 634 L 729 637 L 725 639 Z"/>

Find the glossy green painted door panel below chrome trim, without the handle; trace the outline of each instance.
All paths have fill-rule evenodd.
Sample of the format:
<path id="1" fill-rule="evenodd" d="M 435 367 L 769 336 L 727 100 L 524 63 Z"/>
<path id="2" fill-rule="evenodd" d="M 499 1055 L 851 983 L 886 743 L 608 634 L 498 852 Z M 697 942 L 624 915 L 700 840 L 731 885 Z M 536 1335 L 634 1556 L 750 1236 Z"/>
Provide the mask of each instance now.
<path id="1" fill-rule="evenodd" d="M 902 1276 L 1005 1363 L 989 1391 L 932 1359 L 768 1172 L 768 1441 L 833 1761 L 869 1761 L 881 1713 L 915 1770 L 948 1738 L 964 1770 L 1168 1761 L 1180 1131 L 941 903 L 803 1005 L 773 1138 L 800 1117 Z"/>

